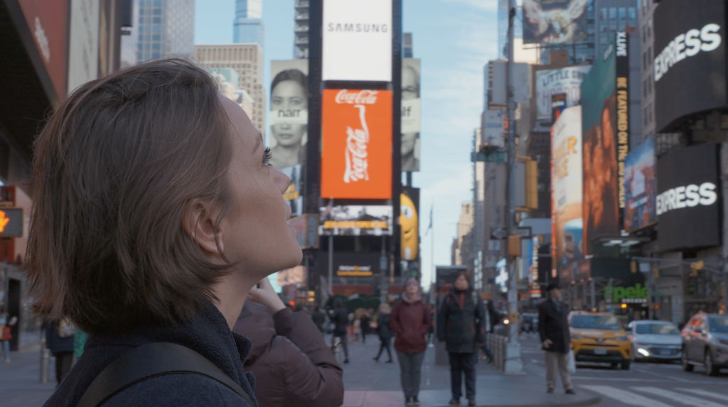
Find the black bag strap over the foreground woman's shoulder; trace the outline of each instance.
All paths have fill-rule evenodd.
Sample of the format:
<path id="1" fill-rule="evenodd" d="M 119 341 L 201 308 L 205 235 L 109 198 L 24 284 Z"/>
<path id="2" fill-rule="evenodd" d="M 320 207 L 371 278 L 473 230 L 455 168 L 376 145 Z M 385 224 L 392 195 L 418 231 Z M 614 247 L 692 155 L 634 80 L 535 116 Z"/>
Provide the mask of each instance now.
<path id="1" fill-rule="evenodd" d="M 78 407 L 97 407 L 127 387 L 165 374 L 193 373 L 207 376 L 237 392 L 253 407 L 256 403 L 239 384 L 205 356 L 170 342 L 153 342 L 135 347 L 106 366 L 91 382 Z"/>

